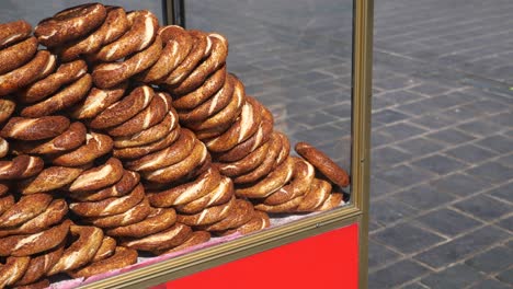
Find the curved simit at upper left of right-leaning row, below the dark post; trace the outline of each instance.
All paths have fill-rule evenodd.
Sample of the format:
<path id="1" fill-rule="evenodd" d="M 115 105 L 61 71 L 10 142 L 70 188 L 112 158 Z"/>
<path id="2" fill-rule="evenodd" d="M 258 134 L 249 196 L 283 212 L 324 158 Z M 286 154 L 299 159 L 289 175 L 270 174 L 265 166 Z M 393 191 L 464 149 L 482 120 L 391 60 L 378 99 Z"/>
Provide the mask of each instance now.
<path id="1" fill-rule="evenodd" d="M 166 45 L 159 60 L 148 70 L 136 77 L 145 83 L 156 82 L 170 74 L 189 55 L 192 48 L 192 37 L 182 27 L 170 25 L 160 27 L 157 32 Z"/>

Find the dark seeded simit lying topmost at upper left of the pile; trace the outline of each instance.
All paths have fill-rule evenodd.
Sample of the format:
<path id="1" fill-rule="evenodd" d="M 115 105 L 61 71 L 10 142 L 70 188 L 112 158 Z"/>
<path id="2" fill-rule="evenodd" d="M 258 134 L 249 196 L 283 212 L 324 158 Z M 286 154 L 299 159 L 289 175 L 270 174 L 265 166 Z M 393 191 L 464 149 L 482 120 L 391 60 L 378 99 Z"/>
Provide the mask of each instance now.
<path id="1" fill-rule="evenodd" d="M 72 7 L 39 22 L 34 35 L 45 46 L 59 46 L 87 35 L 100 26 L 105 16 L 106 10 L 100 3 Z"/>

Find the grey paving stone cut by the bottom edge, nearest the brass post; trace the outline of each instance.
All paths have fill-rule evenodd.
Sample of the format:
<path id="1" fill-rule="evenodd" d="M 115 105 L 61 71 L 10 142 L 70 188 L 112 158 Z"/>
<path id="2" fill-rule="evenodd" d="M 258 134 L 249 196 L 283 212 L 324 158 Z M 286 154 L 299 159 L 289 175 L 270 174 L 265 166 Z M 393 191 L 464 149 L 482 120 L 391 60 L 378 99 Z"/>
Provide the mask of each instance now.
<path id="1" fill-rule="evenodd" d="M 369 274 L 368 288 L 392 288 L 429 273 L 424 266 L 411 261 L 400 261 L 381 270 Z"/>

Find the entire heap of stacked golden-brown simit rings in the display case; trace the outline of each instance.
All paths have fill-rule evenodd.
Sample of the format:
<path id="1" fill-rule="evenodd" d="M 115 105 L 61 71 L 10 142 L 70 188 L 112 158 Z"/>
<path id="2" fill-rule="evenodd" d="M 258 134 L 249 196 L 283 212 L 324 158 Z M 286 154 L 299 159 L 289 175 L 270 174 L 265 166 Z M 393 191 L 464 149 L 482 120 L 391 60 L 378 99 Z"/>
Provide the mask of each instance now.
<path id="1" fill-rule="evenodd" d="M 38 46 L 46 47 L 45 50 Z M 347 174 L 227 71 L 217 33 L 90 3 L 0 24 L 0 288 L 328 210 Z M 69 210 L 69 211 L 68 211 Z"/>

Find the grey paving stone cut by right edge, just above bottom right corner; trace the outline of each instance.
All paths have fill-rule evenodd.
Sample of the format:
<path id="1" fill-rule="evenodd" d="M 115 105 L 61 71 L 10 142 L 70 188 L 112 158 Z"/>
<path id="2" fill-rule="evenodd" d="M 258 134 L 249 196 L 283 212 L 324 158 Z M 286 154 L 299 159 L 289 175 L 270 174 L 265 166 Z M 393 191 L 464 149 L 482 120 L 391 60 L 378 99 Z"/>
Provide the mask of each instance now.
<path id="1" fill-rule="evenodd" d="M 494 273 L 510 267 L 512 261 L 513 250 L 497 246 L 467 259 L 465 264 L 480 271 Z"/>

